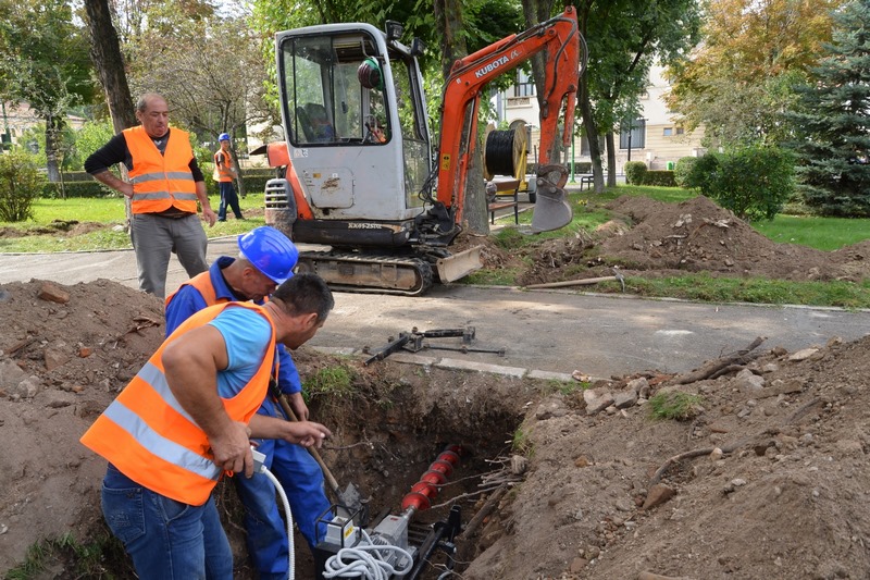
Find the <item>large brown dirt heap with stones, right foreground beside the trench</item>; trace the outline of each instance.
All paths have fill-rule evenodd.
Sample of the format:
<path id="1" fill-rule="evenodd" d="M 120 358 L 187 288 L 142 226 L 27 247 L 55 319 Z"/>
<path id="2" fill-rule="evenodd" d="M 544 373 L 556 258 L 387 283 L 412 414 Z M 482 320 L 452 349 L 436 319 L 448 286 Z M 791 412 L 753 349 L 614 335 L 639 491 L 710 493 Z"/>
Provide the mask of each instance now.
<path id="1" fill-rule="evenodd" d="M 542 400 L 530 474 L 463 578 L 867 578 L 868 365 L 870 337 L 832 340 Z M 688 420 L 652 420 L 638 391 L 699 398 Z"/>

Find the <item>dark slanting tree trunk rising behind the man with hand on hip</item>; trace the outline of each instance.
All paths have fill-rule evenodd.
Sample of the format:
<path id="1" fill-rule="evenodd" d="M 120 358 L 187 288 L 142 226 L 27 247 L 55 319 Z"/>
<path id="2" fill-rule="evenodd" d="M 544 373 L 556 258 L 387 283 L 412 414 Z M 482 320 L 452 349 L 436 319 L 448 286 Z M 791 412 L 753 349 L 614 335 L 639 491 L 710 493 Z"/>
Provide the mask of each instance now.
<path id="1" fill-rule="evenodd" d="M 85 0 L 85 10 L 90 33 L 90 58 L 105 91 L 112 125 L 115 133 L 121 133 L 137 122 L 109 0 Z"/>

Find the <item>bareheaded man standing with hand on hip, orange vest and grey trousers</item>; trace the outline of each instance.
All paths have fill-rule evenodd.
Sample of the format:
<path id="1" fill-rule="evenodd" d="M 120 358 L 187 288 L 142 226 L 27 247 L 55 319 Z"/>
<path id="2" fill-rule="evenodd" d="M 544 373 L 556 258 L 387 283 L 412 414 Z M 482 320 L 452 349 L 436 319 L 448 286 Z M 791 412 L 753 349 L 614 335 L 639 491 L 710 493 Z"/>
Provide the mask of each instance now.
<path id="1" fill-rule="evenodd" d="M 216 215 L 188 134 L 169 126 L 166 100 L 154 92 L 142 95 L 136 103 L 136 119 L 141 125 L 109 139 L 87 158 L 85 171 L 130 198 L 129 237 L 139 289 L 163 298 L 173 252 L 190 277 L 209 268 L 209 238 L 197 218 L 197 201 L 209 226 L 214 225 Z M 127 168 L 129 183 L 109 171 L 116 163 Z"/>

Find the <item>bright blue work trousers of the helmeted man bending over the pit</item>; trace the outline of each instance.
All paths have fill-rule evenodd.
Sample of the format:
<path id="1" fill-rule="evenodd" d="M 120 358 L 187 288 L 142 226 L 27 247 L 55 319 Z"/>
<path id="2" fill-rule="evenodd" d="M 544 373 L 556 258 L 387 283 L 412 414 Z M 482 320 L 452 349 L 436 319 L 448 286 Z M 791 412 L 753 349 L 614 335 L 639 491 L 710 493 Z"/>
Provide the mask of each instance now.
<path id="1" fill-rule="evenodd" d="M 257 412 L 284 418 L 271 399 L 266 399 Z M 257 449 L 265 455 L 265 467 L 287 494 L 294 522 L 299 526 L 309 547 L 314 547 L 326 533 L 326 527 L 318 527 L 316 519 L 330 508 L 323 488 L 323 471 L 304 447 L 284 440 L 256 441 L 259 443 Z M 260 580 L 286 579 L 289 543 L 287 527 L 281 518 L 283 507 L 275 501 L 275 486 L 260 473 L 250 479 L 244 474 L 236 476 L 233 480 L 245 505 L 248 553 Z"/>

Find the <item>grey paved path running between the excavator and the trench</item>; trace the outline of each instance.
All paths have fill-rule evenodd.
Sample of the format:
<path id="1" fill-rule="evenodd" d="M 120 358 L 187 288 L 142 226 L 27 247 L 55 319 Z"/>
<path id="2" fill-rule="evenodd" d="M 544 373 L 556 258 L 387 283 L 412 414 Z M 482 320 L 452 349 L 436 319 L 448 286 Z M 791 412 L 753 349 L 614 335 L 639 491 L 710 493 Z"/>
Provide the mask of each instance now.
<path id="1" fill-rule="evenodd" d="M 209 259 L 235 255 L 235 237 L 213 239 Z M 63 284 L 109 279 L 137 287 L 133 251 L 0 255 L 0 284 L 30 279 Z M 173 259 L 174 288 L 185 272 Z M 768 337 L 762 348 L 797 350 L 832 336 L 870 333 L 870 311 L 647 300 L 570 291 L 436 286 L 426 296 L 336 293 L 336 309 L 312 345 L 348 351 L 376 348 L 399 332 L 476 330 L 476 346 L 504 347 L 506 355 L 427 350 L 430 357 L 594 377 L 643 370 L 682 372 L 705 360 Z M 432 344 L 459 346 L 459 340 Z"/>

